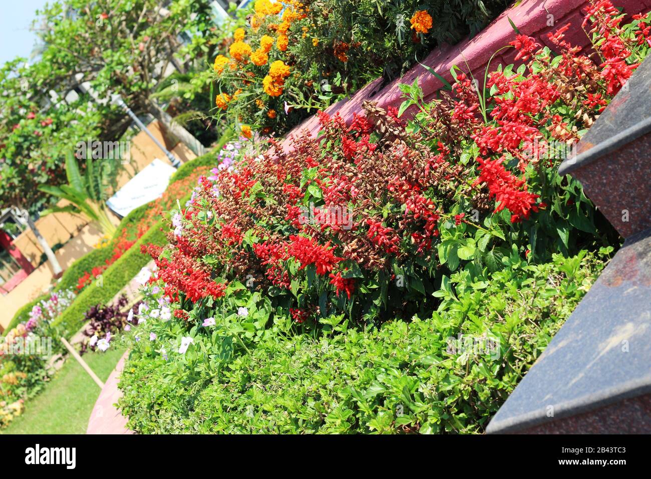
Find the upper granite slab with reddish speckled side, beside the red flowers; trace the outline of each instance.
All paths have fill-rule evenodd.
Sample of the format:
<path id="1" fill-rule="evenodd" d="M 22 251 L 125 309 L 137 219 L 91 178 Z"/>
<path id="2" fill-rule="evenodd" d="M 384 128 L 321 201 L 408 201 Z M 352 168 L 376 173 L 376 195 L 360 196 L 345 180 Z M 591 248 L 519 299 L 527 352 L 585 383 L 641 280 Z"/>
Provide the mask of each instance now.
<path id="1" fill-rule="evenodd" d="M 651 227 L 651 57 L 559 167 L 568 173 L 624 238 Z"/>

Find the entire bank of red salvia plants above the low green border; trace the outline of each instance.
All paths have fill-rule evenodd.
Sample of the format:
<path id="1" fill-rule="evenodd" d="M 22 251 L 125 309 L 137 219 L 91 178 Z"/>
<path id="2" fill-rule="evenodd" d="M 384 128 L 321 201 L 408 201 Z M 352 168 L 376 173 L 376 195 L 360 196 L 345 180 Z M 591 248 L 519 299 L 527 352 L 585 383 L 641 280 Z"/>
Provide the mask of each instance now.
<path id="1" fill-rule="evenodd" d="M 480 93 L 455 69 L 451 94 L 430 104 L 404 87 L 401 109 L 420 109 L 409 123 L 368 102 L 350 125 L 320 113 L 318 138 L 298 136 L 289 153 L 271 139 L 202 177 L 173 212 L 170 245 L 148 248 L 150 282 L 181 320 L 157 337 L 183 354 L 212 341 L 223 358 L 270 329 L 428 317 L 454 298 L 452 275 L 482 288 L 514 257 L 598 249 L 594 209 L 550 152 L 575 143 L 628 80 L 650 17 L 620 27 L 602 2 L 586 18 L 609 38 L 592 57 L 565 27 L 551 35 L 558 55 L 517 35 L 527 64 L 500 68 Z"/>

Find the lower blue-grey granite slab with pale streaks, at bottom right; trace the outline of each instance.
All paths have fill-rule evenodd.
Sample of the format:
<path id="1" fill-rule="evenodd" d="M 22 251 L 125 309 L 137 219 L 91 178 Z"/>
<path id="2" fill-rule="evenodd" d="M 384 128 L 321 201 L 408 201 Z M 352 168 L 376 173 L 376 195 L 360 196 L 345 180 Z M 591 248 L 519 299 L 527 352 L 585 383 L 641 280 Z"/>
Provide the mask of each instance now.
<path id="1" fill-rule="evenodd" d="M 487 432 L 650 433 L 648 394 L 651 229 L 626 240 Z"/>

